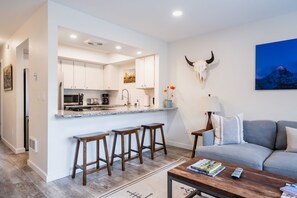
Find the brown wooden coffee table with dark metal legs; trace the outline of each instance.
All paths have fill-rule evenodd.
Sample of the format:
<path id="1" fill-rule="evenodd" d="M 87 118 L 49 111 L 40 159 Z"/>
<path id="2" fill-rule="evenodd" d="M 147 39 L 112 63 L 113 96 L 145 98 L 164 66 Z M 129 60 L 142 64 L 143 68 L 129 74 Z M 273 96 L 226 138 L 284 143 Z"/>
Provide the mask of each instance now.
<path id="1" fill-rule="evenodd" d="M 191 186 L 215 197 L 281 197 L 280 187 L 296 183 L 297 179 L 256 170 L 246 166 L 222 162 L 226 169 L 215 177 L 187 170 L 203 157 L 195 157 L 167 172 L 167 197 L 172 198 L 172 181 Z M 240 179 L 231 177 L 235 168 L 243 168 Z"/>

